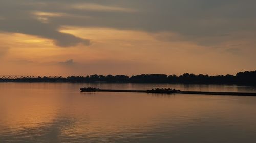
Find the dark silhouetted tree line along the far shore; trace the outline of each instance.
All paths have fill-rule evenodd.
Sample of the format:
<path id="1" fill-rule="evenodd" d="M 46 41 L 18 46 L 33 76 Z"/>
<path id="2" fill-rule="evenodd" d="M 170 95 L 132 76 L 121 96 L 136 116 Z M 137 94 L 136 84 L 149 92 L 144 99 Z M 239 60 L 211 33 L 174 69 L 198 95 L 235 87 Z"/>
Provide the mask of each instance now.
<path id="1" fill-rule="evenodd" d="M 184 73 L 183 75 L 166 74 L 141 74 L 134 76 L 127 75 L 88 75 L 69 76 L 59 78 L 21 78 L 21 79 L 0 79 L 0 82 L 71 82 L 71 83 L 183 83 L 183 84 L 243 84 L 256 85 L 256 71 L 239 72 L 236 75 L 195 75 Z"/>

